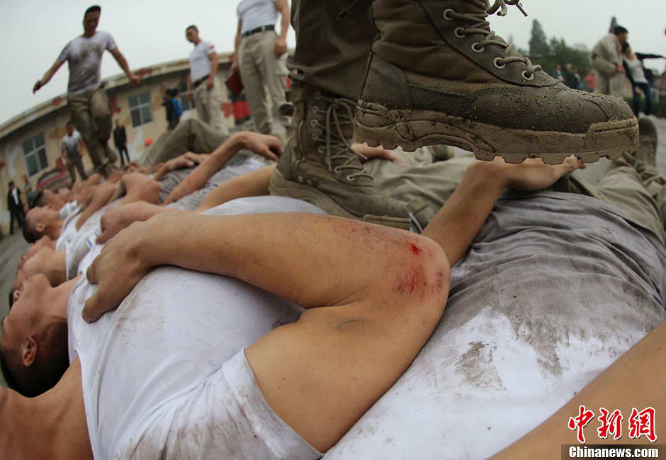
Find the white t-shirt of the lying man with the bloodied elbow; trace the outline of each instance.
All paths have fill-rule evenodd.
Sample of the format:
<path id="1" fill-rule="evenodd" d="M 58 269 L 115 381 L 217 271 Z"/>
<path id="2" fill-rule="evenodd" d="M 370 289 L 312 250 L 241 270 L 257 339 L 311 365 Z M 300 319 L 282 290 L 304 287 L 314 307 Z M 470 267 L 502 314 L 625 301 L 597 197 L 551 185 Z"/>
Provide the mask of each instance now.
<path id="1" fill-rule="evenodd" d="M 206 214 L 321 212 L 286 197 L 235 200 Z M 101 251 L 81 262 L 85 270 Z M 261 396 L 243 349 L 300 308 L 230 277 L 157 268 L 117 310 L 81 319 L 96 287 L 68 305 L 96 459 L 317 459 Z"/>

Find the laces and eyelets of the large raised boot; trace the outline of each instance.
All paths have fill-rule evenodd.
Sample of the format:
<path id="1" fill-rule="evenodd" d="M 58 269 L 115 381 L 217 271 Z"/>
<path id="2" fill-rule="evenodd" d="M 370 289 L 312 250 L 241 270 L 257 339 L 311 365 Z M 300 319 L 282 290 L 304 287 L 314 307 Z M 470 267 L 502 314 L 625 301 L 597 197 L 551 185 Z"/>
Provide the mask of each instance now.
<path id="1" fill-rule="evenodd" d="M 505 57 L 497 57 L 495 59 L 495 67 L 498 69 L 504 69 L 507 64 L 512 62 L 520 62 L 525 65 L 525 70 L 523 71 L 523 76 L 525 79 L 531 80 L 534 79 L 534 73 L 541 69 L 541 66 L 538 64 L 532 64 L 529 58 L 524 56 L 509 56 L 509 52 L 512 50 L 512 45 L 509 45 L 502 37 L 499 37 L 493 30 L 490 30 L 490 23 L 487 21 L 487 17 L 497 13 L 497 16 L 507 16 L 509 10 L 507 6 L 516 6 L 521 13 L 527 16 L 526 11 L 523 6 L 520 4 L 520 0 L 495 0 L 495 3 L 490 4 L 490 0 L 467 0 L 472 4 L 475 4 L 479 8 L 482 8 L 484 13 L 458 13 L 453 11 L 451 8 L 444 11 L 444 19 L 447 21 L 453 21 L 454 19 L 461 19 L 465 22 L 470 23 L 470 26 L 467 28 L 459 27 L 454 33 L 458 38 L 464 38 L 468 33 L 478 33 L 485 35 L 485 38 L 479 42 L 474 42 L 472 44 L 472 49 L 475 52 L 482 52 L 485 50 L 487 45 L 497 45 L 498 47 L 504 50 Z"/>

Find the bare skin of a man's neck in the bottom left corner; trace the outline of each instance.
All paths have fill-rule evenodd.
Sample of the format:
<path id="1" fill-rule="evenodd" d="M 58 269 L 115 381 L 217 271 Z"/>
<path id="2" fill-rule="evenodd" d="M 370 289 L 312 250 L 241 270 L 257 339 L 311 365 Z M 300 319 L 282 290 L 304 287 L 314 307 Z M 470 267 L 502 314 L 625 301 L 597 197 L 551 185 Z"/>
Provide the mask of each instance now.
<path id="1" fill-rule="evenodd" d="M 92 459 L 79 361 L 37 398 L 1 388 L 0 426 L 0 452 L 22 459 Z"/>

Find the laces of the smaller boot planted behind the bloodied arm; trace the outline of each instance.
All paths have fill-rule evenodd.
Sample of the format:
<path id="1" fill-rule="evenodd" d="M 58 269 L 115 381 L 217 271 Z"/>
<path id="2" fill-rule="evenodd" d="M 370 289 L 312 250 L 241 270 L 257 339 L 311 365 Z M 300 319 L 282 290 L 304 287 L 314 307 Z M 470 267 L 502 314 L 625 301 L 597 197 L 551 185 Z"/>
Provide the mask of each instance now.
<path id="1" fill-rule="evenodd" d="M 324 143 L 317 149 L 320 153 L 326 154 L 324 161 L 329 171 L 334 173 L 351 171 L 347 174 L 347 180 L 352 182 L 358 177 L 366 177 L 372 180 L 372 176 L 366 173 L 365 168 L 361 166 L 359 154 L 351 149 L 351 143 L 343 132 L 345 125 L 354 126 L 356 103 L 344 98 L 329 98 L 319 92 L 315 93 L 315 99 L 324 100 L 327 103 L 324 125 L 317 119 L 313 119 L 311 124 L 325 134 L 325 137 L 321 137 L 317 133 L 312 133 L 312 140 Z M 315 107 L 315 111 L 319 110 L 321 109 Z M 363 158 L 366 157 L 363 156 Z"/>

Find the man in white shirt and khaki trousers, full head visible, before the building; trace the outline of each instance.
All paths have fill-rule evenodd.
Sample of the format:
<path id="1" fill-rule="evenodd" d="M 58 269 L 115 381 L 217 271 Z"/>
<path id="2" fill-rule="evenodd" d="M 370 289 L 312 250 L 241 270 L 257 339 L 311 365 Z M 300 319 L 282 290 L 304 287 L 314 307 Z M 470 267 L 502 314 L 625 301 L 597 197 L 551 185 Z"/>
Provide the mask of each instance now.
<path id="1" fill-rule="evenodd" d="M 208 40 L 201 40 L 196 25 L 188 25 L 185 37 L 194 45 L 190 53 L 190 76 L 187 82 L 187 93 L 194 93 L 194 103 L 199 120 L 213 129 L 229 134 L 229 127 L 222 115 L 222 96 L 218 81 L 218 64 L 220 58 L 215 45 Z"/>

